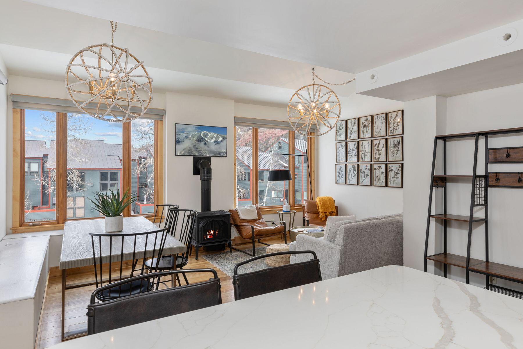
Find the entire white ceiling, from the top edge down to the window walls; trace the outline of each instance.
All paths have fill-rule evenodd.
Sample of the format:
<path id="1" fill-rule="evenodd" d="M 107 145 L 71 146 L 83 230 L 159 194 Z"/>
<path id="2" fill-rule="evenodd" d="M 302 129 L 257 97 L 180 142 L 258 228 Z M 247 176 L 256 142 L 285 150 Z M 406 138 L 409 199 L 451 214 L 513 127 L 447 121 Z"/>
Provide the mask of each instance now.
<path id="1" fill-rule="evenodd" d="M 155 92 L 286 107 L 312 67 L 344 82 L 522 17 L 519 0 L 0 0 L 0 53 L 10 74 L 63 81 L 72 54 L 110 41 L 112 19 Z"/>

